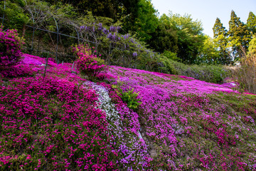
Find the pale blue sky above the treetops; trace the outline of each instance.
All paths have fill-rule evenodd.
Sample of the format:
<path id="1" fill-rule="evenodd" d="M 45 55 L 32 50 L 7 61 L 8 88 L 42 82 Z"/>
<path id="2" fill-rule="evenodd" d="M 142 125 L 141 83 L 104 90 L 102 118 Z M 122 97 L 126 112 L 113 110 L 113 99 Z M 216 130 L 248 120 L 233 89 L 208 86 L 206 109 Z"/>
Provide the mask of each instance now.
<path id="1" fill-rule="evenodd" d="M 151 0 L 159 14 L 191 14 L 194 21 L 203 23 L 203 33 L 213 37 L 213 25 L 218 17 L 228 29 L 231 10 L 246 23 L 249 12 L 256 15 L 256 0 Z"/>

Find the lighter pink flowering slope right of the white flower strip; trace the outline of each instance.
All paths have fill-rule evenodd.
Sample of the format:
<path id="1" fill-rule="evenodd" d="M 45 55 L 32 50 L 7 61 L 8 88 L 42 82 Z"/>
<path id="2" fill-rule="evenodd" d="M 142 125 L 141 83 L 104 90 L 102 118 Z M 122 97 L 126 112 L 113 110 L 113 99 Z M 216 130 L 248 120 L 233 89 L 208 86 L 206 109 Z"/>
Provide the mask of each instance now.
<path id="1" fill-rule="evenodd" d="M 256 170 L 254 95 L 117 66 L 107 74 L 123 90 L 139 92 L 139 123 L 153 170 Z"/>

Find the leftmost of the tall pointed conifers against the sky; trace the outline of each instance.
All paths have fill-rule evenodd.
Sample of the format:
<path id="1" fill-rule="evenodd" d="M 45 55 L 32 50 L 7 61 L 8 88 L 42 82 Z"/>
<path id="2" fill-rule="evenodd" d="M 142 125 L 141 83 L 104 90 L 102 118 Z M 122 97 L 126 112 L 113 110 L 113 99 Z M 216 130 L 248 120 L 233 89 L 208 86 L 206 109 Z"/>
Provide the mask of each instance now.
<path id="1" fill-rule="evenodd" d="M 227 45 L 228 45 L 227 36 L 228 36 L 228 31 L 220 22 L 220 19 L 217 18 L 213 26 L 213 37 L 214 37 L 214 42 L 217 44 L 219 48 L 219 53 L 220 53 L 218 63 L 221 63 L 223 65 L 230 64 L 232 61 L 232 58 L 227 48 Z"/>

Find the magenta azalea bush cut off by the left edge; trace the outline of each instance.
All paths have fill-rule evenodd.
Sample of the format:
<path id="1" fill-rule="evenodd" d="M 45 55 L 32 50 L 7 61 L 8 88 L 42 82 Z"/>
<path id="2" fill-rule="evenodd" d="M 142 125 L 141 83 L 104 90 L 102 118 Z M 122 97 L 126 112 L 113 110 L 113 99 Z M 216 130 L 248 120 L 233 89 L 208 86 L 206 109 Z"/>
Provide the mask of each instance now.
<path id="1" fill-rule="evenodd" d="M 21 46 L 23 38 L 18 36 L 16 30 L 3 31 L 0 27 L 0 66 L 14 66 L 21 61 Z"/>

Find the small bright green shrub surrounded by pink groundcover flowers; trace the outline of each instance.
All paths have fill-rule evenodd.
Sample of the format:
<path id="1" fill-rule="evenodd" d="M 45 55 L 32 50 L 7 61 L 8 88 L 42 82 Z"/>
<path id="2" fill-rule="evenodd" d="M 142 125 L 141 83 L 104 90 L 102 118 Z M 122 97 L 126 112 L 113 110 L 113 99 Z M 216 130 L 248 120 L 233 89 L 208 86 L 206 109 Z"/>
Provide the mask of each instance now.
<path id="1" fill-rule="evenodd" d="M 122 100 L 127 103 L 127 107 L 137 111 L 139 105 L 142 104 L 140 102 L 141 99 L 138 98 L 139 93 L 134 91 L 134 88 L 128 88 L 127 90 L 123 90 L 121 87 L 123 86 L 123 82 L 117 81 L 117 85 L 112 85 L 112 88 L 115 89 L 117 95 L 122 98 Z"/>

